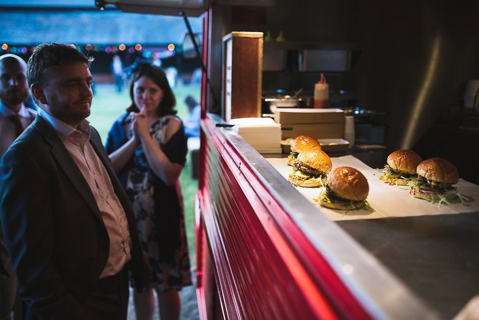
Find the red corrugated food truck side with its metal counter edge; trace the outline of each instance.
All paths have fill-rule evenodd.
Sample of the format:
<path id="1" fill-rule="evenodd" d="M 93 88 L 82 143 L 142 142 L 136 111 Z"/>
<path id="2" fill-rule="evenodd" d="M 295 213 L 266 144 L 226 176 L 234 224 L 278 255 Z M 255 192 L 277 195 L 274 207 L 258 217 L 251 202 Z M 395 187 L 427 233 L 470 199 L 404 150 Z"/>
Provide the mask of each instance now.
<path id="1" fill-rule="evenodd" d="M 212 115 L 202 120 L 196 199 L 202 320 L 438 319 L 217 122 Z"/>

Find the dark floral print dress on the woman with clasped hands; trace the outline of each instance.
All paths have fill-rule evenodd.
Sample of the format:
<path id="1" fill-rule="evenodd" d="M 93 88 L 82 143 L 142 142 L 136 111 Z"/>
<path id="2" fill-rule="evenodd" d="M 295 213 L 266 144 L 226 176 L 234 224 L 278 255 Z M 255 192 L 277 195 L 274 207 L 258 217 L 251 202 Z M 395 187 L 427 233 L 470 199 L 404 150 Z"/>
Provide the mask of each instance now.
<path id="1" fill-rule="evenodd" d="M 166 128 L 173 117 L 159 118 L 150 127 L 150 134 L 170 161 L 184 166 L 187 147 L 183 125 L 165 143 Z M 130 139 L 131 117 L 125 118 L 124 128 Z M 130 162 L 126 193 L 135 210 L 140 242 L 153 271 L 149 288 L 166 292 L 191 285 L 180 184 L 167 186 L 155 175 L 141 144 Z"/>

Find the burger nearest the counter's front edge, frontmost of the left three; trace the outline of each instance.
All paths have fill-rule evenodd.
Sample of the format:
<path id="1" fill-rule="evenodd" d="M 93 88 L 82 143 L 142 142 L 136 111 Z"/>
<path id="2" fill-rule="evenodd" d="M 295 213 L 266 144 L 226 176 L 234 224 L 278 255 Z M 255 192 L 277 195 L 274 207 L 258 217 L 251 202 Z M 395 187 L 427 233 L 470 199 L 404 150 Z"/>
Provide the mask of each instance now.
<path id="1" fill-rule="evenodd" d="M 329 173 L 326 189 L 319 194 L 321 206 L 336 210 L 370 208 L 366 202 L 369 184 L 366 177 L 351 167 L 338 167 Z"/>

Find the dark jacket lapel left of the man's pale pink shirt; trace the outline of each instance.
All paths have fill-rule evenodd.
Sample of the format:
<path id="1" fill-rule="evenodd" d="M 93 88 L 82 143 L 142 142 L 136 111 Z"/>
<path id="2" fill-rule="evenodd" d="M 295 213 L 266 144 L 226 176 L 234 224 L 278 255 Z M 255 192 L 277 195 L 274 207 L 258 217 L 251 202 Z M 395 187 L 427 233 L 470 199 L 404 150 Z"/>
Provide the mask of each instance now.
<path id="1" fill-rule="evenodd" d="M 70 179 L 72 185 L 78 191 L 80 196 L 90 207 L 94 215 L 97 216 L 101 224 L 103 224 L 103 218 L 101 217 L 100 210 L 98 209 L 98 205 L 88 182 L 86 182 L 85 177 L 68 150 L 63 145 L 63 142 L 60 140 L 55 130 L 40 116 L 36 117 L 32 125 L 40 131 L 45 140 L 51 145 L 51 154 L 56 159 L 65 175 Z"/>

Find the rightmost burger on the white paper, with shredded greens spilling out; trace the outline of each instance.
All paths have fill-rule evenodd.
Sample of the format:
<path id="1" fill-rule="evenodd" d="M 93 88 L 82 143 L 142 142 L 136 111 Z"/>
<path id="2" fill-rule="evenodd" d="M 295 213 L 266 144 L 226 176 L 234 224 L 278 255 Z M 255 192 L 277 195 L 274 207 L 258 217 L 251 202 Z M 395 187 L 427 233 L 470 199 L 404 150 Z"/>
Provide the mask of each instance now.
<path id="1" fill-rule="evenodd" d="M 431 158 L 416 168 L 418 178 L 409 182 L 409 193 L 432 202 L 450 201 L 460 197 L 453 186 L 459 181 L 458 169 L 446 159 Z"/>

